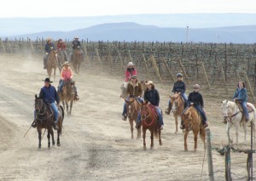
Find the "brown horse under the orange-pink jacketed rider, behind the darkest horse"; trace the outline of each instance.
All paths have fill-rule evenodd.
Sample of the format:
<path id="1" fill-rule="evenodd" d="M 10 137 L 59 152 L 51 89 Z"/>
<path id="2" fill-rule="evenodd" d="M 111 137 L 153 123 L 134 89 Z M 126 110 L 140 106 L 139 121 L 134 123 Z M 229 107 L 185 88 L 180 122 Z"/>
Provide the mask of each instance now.
<path id="1" fill-rule="evenodd" d="M 61 101 L 62 101 L 62 105 L 64 107 L 64 110 L 65 110 L 65 107 L 66 107 L 67 115 L 68 114 L 71 115 L 71 110 L 72 110 L 72 107 L 73 107 L 73 101 L 75 100 L 74 85 L 75 85 L 75 82 L 73 82 L 73 81 L 64 82 L 63 88 L 62 88 L 61 93 L 60 93 L 60 98 L 61 98 Z M 66 106 L 65 106 L 64 102 L 65 102 Z M 68 102 L 70 103 L 70 106 L 68 106 Z M 69 107 L 69 111 L 68 111 L 68 107 Z"/>

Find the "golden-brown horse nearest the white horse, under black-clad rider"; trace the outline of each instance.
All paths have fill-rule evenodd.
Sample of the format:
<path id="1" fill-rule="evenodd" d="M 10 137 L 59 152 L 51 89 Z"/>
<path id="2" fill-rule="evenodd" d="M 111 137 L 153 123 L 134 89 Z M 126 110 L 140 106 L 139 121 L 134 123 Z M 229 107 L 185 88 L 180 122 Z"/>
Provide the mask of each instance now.
<path id="1" fill-rule="evenodd" d="M 192 130 L 194 133 L 194 150 L 197 149 L 197 135 L 200 133 L 201 140 L 204 144 L 204 149 L 206 149 L 206 130 L 201 122 L 201 116 L 193 106 L 190 106 L 182 115 L 185 133 L 184 133 L 184 150 L 188 151 L 187 138 L 189 131 Z"/>

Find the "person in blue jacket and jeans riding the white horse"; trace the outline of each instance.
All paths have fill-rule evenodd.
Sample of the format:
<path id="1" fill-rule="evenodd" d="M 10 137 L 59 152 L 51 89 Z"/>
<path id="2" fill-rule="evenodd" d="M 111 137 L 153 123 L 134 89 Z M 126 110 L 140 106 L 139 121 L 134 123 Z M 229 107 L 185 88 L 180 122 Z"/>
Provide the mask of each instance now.
<path id="1" fill-rule="evenodd" d="M 248 122 L 248 120 L 249 120 L 249 113 L 247 110 L 248 95 L 247 95 L 247 88 L 246 88 L 244 82 L 242 82 L 242 81 L 238 82 L 236 92 L 234 93 L 233 99 L 234 99 L 234 102 L 241 104 L 242 110 L 245 114 L 245 121 Z"/>

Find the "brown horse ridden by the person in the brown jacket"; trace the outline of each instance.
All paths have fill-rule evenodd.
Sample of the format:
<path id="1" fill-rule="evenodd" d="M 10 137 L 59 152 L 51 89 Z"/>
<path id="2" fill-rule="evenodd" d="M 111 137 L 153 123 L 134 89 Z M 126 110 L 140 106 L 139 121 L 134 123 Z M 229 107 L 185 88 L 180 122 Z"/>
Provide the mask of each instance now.
<path id="1" fill-rule="evenodd" d="M 141 104 L 137 99 L 130 98 L 129 100 L 125 100 L 127 116 L 129 118 L 130 127 L 131 127 L 131 139 L 133 139 L 133 122 L 137 121 L 137 116 L 139 111 L 141 110 Z M 137 139 L 141 138 L 141 127 L 137 129 Z"/>

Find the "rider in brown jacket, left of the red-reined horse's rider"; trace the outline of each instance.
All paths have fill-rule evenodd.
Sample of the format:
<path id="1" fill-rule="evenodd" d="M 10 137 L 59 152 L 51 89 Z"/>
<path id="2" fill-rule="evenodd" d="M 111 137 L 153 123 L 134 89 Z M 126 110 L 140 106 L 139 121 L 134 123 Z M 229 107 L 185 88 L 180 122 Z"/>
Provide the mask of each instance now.
<path id="1" fill-rule="evenodd" d="M 137 76 L 133 75 L 131 76 L 131 82 L 128 83 L 127 89 L 126 89 L 127 98 L 126 100 L 129 100 L 129 98 L 135 98 L 139 102 L 143 102 L 143 99 L 141 98 L 143 94 L 142 85 L 140 82 L 137 81 Z M 122 113 L 122 120 L 126 121 L 127 119 L 127 110 L 126 110 L 126 102 L 124 104 L 123 113 Z"/>

